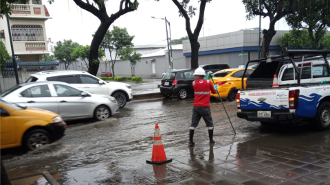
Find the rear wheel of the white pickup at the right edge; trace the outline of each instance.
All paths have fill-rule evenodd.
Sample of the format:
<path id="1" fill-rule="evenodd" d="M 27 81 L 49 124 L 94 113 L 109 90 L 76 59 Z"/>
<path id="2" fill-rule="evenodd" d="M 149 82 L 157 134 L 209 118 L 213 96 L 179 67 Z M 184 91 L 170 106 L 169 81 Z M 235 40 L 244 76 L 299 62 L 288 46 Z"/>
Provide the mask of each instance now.
<path id="1" fill-rule="evenodd" d="M 328 130 L 330 127 L 330 102 L 323 102 L 316 114 L 316 127 L 320 131 Z"/>

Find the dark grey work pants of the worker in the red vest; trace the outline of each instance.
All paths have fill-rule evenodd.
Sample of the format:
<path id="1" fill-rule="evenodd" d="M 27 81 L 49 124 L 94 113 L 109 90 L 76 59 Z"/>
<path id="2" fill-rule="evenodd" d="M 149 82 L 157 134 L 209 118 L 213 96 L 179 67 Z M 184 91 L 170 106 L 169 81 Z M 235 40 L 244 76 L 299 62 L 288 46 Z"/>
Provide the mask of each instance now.
<path id="1" fill-rule="evenodd" d="M 199 106 L 195 106 L 192 109 L 192 120 L 191 120 L 190 130 L 195 130 L 195 128 L 199 124 L 199 121 L 201 120 L 201 117 L 203 117 L 203 120 L 205 121 L 208 130 L 212 130 L 214 128 L 214 125 L 212 121 L 210 107 L 199 107 Z"/>

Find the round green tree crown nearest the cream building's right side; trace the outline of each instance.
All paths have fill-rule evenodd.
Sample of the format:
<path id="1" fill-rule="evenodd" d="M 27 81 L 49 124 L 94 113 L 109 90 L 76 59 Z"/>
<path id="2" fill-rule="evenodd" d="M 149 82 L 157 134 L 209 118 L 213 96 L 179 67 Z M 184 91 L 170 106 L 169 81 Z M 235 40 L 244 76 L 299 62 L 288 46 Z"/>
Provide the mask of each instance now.
<path id="1" fill-rule="evenodd" d="M 72 40 L 56 42 L 56 46 L 54 47 L 54 56 L 58 61 L 65 62 L 65 69 L 67 69 L 67 66 L 69 66 L 69 64 L 76 59 L 71 56 L 71 53 L 78 46 L 79 44 L 77 42 L 73 42 Z"/>

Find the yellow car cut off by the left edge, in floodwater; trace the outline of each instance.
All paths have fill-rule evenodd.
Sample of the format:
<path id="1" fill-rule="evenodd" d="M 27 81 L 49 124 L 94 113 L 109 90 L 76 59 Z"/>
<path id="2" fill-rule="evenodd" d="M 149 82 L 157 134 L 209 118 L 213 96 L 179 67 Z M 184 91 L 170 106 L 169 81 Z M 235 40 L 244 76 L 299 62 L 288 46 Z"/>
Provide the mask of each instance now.
<path id="1" fill-rule="evenodd" d="M 0 100 L 1 149 L 34 150 L 64 136 L 67 125 L 61 116 L 47 110 L 25 108 Z"/>

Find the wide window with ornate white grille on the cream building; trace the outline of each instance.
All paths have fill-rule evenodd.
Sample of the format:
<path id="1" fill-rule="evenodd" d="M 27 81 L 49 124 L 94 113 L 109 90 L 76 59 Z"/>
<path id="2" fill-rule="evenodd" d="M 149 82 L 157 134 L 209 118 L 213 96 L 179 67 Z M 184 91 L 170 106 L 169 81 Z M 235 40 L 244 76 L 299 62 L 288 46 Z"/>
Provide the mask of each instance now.
<path id="1" fill-rule="evenodd" d="M 45 41 L 41 25 L 12 25 L 13 41 Z"/>

